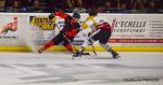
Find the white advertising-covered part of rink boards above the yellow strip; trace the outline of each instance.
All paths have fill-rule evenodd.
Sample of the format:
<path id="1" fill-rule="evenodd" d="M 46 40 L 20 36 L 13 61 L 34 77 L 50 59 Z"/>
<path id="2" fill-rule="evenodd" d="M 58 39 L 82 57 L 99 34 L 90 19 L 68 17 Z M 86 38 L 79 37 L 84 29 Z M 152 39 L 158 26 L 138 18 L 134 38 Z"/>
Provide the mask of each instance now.
<path id="1" fill-rule="evenodd" d="M 53 27 L 51 30 L 48 26 L 49 13 L 0 13 L 0 27 L 11 23 L 13 17 L 17 17 L 17 30 L 9 31 L 7 34 L 0 34 L 0 46 L 27 46 L 33 43 L 36 46 L 42 45 L 59 33 Z M 34 25 L 30 20 L 36 17 L 37 23 Z M 82 14 L 82 22 L 86 20 L 87 14 Z M 43 20 L 42 22 L 42 17 Z M 110 44 L 112 46 L 163 46 L 163 14 L 99 14 L 99 18 L 112 23 L 116 19 L 116 26 L 113 30 Z M 63 27 L 63 19 L 57 17 L 54 20 L 59 27 Z M 38 26 L 39 27 L 38 27 Z M 45 26 L 40 26 L 45 25 Z M 48 30 L 42 30 L 42 28 Z M 77 44 L 86 37 L 79 33 L 75 40 Z M 95 46 L 99 46 L 96 42 Z"/>

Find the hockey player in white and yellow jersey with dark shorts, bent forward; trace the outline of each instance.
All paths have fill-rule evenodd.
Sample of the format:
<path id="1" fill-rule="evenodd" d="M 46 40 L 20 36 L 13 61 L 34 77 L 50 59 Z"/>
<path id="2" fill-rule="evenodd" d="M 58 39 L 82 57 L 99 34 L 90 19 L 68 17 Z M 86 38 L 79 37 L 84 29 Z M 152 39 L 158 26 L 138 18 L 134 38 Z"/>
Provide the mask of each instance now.
<path id="1" fill-rule="evenodd" d="M 99 41 L 99 44 L 105 51 L 111 53 L 113 55 L 113 58 L 118 58 L 118 54 L 115 51 L 113 51 L 112 47 L 108 44 L 114 24 L 115 19 L 113 20 L 111 26 L 109 23 L 99 19 L 99 17 L 97 16 L 97 12 L 90 11 L 89 17 L 84 24 L 82 24 L 82 27 L 84 29 L 90 27 L 92 29 L 91 34 L 86 41 L 84 41 L 79 53 L 74 54 L 73 57 L 82 57 L 82 54 L 86 49 L 87 45 L 92 44 L 95 41 Z"/>

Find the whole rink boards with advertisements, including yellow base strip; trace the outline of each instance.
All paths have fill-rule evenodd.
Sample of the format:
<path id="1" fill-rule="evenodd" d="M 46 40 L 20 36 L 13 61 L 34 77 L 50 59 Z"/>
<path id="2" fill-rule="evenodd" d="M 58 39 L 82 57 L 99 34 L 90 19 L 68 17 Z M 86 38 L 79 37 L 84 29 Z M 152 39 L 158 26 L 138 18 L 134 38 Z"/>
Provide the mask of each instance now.
<path id="1" fill-rule="evenodd" d="M 0 13 L 0 29 L 17 18 L 17 29 L 0 34 L 0 51 L 29 52 L 40 47 L 59 33 L 64 26 L 62 18 L 54 17 L 53 24 L 49 24 L 48 13 Z M 82 14 L 82 22 L 87 14 Z M 112 24 L 116 19 L 109 44 L 120 52 L 163 52 L 163 14 L 99 14 L 99 18 Z M 80 31 L 76 36 L 74 45 L 78 45 L 87 38 L 86 32 Z M 103 52 L 98 42 L 96 51 Z M 87 51 L 92 47 L 88 46 Z M 48 51 L 66 51 L 63 46 L 53 46 Z"/>

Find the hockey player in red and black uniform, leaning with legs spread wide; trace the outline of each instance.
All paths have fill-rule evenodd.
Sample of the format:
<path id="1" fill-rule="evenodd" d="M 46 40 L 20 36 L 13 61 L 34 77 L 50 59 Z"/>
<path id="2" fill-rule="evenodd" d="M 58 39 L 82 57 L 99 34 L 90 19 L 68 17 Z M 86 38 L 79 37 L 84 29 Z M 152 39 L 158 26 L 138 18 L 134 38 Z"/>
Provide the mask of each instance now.
<path id="1" fill-rule="evenodd" d="M 71 42 L 73 42 L 74 37 L 79 32 L 80 25 L 78 19 L 80 18 L 80 15 L 78 13 L 74 13 L 73 16 L 71 16 L 61 11 L 55 11 L 49 15 L 49 18 L 52 19 L 54 16 L 59 16 L 64 19 L 64 27 L 60 30 L 58 36 L 55 36 L 48 43 L 43 44 L 43 46 L 40 47 L 38 52 L 42 53 L 45 49 L 50 48 L 53 45 L 58 45 L 62 42 L 71 53 L 75 53 Z"/>

